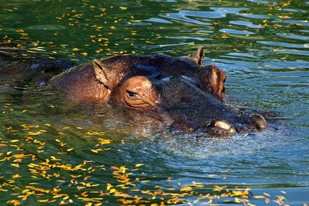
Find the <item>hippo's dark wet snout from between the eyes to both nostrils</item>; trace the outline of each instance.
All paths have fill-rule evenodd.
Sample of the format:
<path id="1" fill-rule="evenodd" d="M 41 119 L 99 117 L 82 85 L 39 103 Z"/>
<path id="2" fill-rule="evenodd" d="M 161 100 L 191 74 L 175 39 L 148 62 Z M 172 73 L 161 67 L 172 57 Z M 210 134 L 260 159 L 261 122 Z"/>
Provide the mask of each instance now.
<path id="1" fill-rule="evenodd" d="M 216 136 L 232 136 L 247 128 L 265 128 L 262 115 L 238 115 L 187 76 L 169 78 L 157 89 L 161 98 L 159 105 L 174 119 L 173 128 L 187 132 L 201 130 Z"/>

